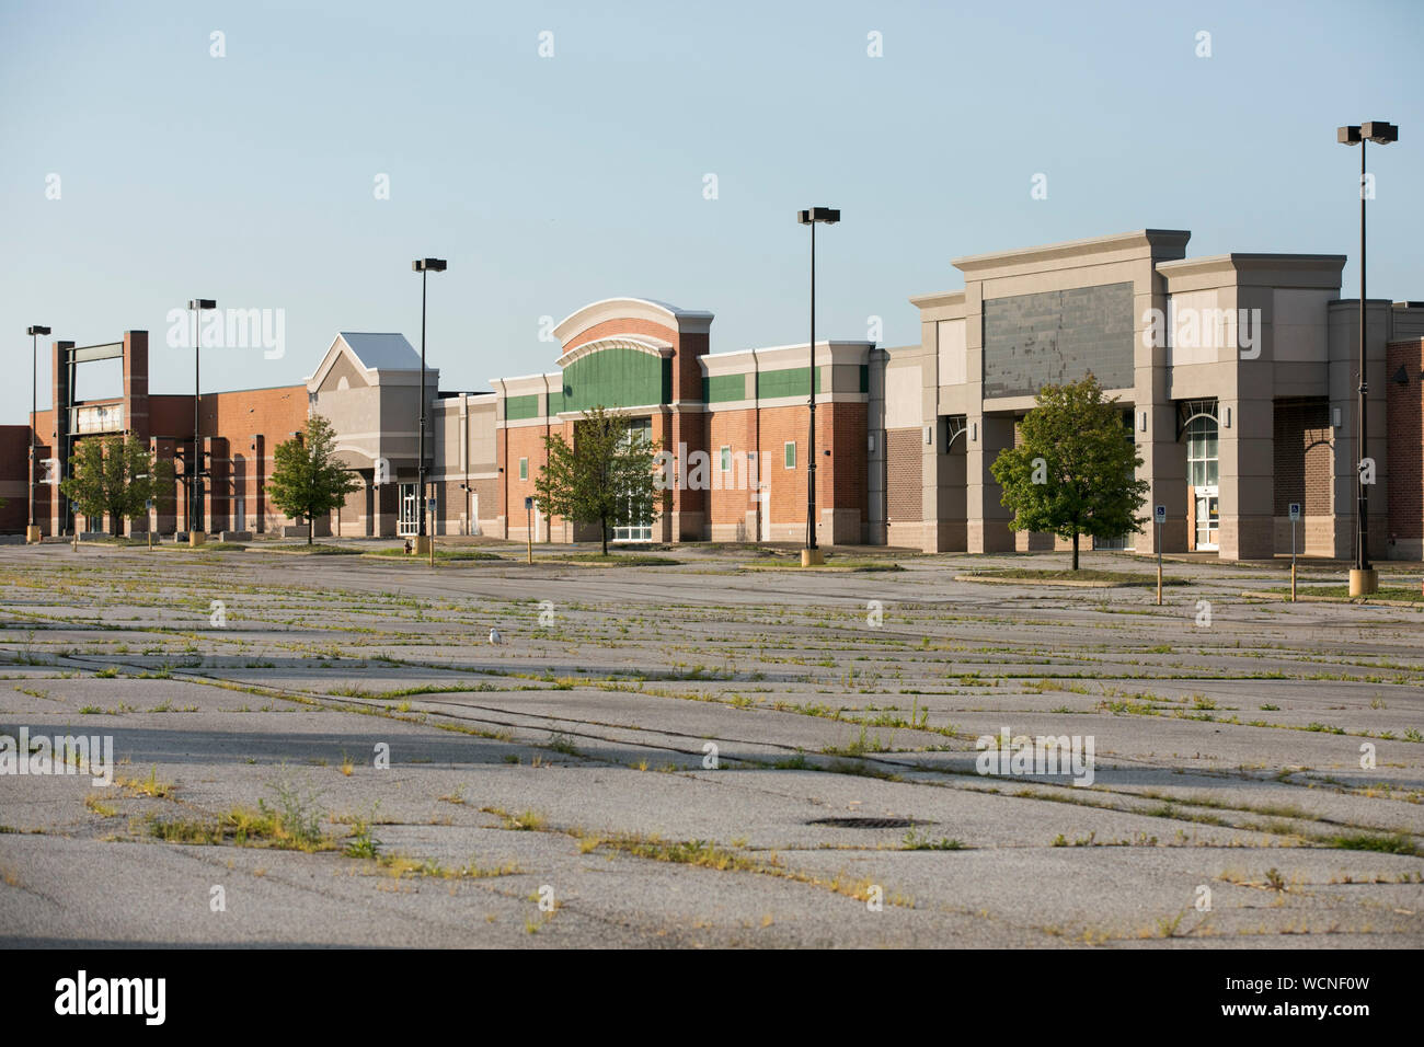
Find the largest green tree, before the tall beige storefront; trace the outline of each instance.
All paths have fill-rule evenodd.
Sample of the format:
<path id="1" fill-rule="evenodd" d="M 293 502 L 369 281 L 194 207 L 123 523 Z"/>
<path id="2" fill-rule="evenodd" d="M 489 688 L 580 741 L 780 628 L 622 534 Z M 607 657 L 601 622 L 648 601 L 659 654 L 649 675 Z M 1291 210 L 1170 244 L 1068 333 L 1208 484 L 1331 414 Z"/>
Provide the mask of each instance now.
<path id="1" fill-rule="evenodd" d="M 1075 571 L 1079 534 L 1108 538 L 1138 527 L 1148 484 L 1134 470 L 1142 459 L 1116 397 L 1104 399 L 1091 373 L 1044 386 L 1020 433 L 1020 444 L 991 466 L 1004 489 L 1000 501 L 1014 511 L 1010 527 L 1072 538 Z"/>

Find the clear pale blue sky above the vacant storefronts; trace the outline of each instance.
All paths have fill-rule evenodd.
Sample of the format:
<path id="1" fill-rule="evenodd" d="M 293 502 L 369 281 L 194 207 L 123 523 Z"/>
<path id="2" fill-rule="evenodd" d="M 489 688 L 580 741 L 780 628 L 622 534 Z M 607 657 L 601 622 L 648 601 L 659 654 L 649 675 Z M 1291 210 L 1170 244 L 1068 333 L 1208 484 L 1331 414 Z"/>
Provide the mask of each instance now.
<path id="1" fill-rule="evenodd" d="M 1349 254 L 1353 296 L 1358 154 L 1334 128 L 1371 118 L 1401 141 L 1370 147 L 1370 293 L 1424 298 L 1421 28 L 1411 0 L 4 0 L 0 420 L 28 407 L 30 323 L 150 330 L 154 392 L 192 387 L 164 336 L 195 296 L 286 316 L 282 359 L 206 352 L 208 390 L 298 382 L 340 329 L 416 343 L 423 255 L 450 261 L 446 389 L 550 369 L 540 318 L 615 295 L 711 309 L 713 352 L 805 340 L 809 204 L 844 215 L 819 236 L 822 336 L 879 315 L 916 342 L 906 298 L 961 286 L 951 258 L 1143 226 L 1193 255 Z"/>

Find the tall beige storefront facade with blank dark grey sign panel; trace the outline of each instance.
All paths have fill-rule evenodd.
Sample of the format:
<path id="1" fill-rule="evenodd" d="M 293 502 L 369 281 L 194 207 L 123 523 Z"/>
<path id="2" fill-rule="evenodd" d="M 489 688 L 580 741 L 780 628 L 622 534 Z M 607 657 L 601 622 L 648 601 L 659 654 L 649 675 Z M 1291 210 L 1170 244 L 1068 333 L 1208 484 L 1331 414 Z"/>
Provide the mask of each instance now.
<path id="1" fill-rule="evenodd" d="M 1303 553 L 1351 554 L 1358 302 L 1340 298 L 1344 256 L 1186 258 L 1189 235 L 1142 229 L 960 258 L 963 291 L 910 299 L 920 345 L 887 350 L 884 363 L 891 544 L 1061 546 L 1010 530 L 990 467 L 1014 444 L 1015 420 L 1038 387 L 1092 370 L 1131 424 L 1136 474 L 1148 483 L 1143 521 L 1152 506 L 1166 509 L 1165 551 L 1215 550 L 1227 560 L 1289 551 L 1289 501 L 1304 507 Z M 1415 330 L 1421 312 L 1368 303 L 1371 389 L 1384 387 L 1387 342 Z M 1386 433 L 1381 405 L 1367 437 L 1371 546 L 1381 551 Z M 1189 446 L 1210 454 L 1192 476 Z M 909 477 L 918 480 L 917 499 Z M 1106 544 L 1152 541 L 1146 524 Z"/>

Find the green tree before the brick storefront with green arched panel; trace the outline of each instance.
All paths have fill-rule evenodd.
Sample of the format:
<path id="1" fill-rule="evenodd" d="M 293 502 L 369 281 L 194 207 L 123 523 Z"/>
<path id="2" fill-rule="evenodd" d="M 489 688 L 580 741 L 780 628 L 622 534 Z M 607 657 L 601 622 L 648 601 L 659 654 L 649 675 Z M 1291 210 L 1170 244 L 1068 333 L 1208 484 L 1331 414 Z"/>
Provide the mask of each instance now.
<path id="1" fill-rule="evenodd" d="M 534 480 L 540 506 L 550 516 L 597 523 L 604 556 L 611 527 L 646 524 L 658 513 L 658 443 L 637 433 L 625 415 L 600 405 L 575 423 L 572 447 L 562 433 L 544 437 L 548 464 Z"/>

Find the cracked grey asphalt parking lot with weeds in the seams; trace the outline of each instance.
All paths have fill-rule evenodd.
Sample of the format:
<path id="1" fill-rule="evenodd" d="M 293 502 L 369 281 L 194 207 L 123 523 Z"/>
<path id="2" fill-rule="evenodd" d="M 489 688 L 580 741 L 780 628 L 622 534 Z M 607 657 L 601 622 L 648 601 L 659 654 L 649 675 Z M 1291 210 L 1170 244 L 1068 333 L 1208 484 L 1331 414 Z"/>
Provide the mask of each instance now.
<path id="1" fill-rule="evenodd" d="M 1424 946 L 1421 610 L 503 556 L 0 548 L 0 734 L 118 761 L 0 778 L 0 939 Z"/>

